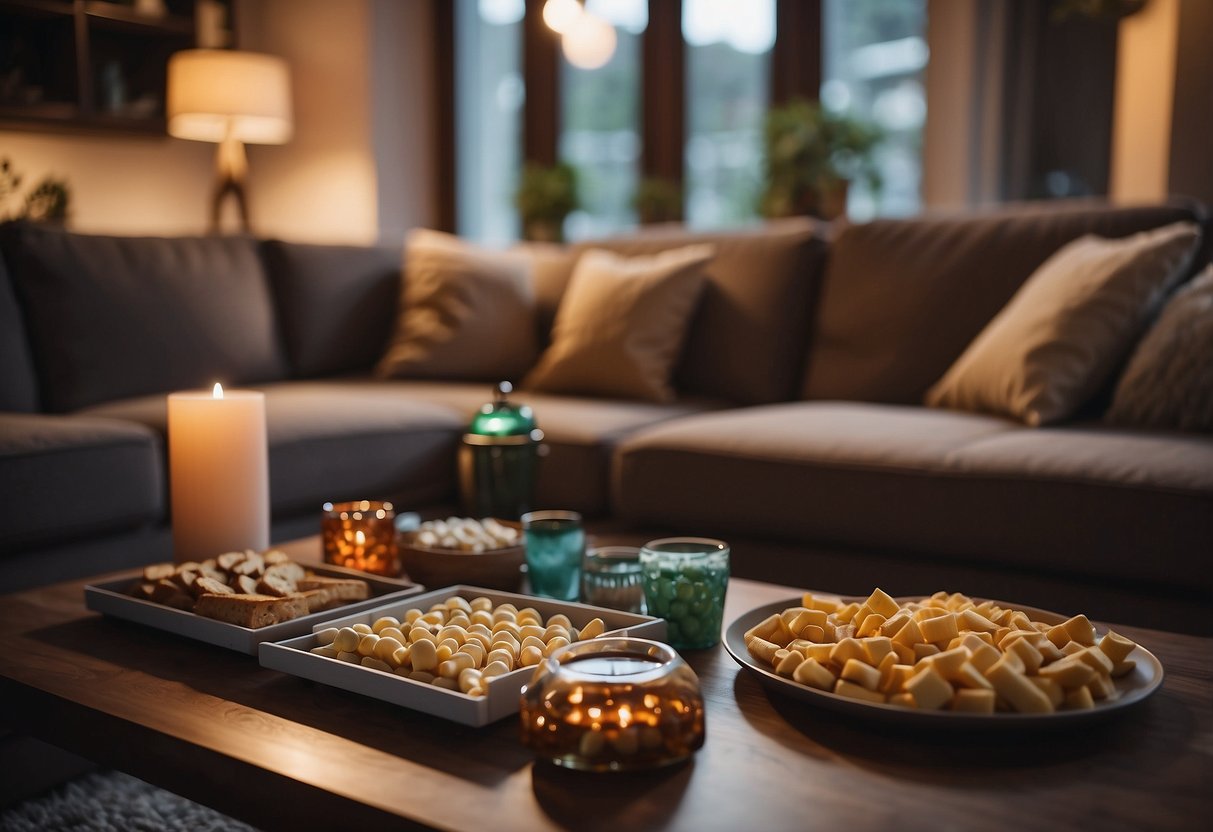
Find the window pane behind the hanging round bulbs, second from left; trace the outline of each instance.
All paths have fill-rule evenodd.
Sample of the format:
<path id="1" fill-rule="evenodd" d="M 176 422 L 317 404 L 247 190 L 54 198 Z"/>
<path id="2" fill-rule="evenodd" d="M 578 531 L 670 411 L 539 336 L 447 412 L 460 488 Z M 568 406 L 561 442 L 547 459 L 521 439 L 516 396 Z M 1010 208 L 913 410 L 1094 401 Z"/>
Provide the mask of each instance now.
<path id="1" fill-rule="evenodd" d="M 615 27 L 616 46 L 598 69 L 560 59 L 560 159 L 576 169 L 581 196 L 581 210 L 565 224 L 571 239 L 636 224 L 632 195 L 640 160 L 640 35 L 648 0 L 588 0 L 586 11 Z"/>

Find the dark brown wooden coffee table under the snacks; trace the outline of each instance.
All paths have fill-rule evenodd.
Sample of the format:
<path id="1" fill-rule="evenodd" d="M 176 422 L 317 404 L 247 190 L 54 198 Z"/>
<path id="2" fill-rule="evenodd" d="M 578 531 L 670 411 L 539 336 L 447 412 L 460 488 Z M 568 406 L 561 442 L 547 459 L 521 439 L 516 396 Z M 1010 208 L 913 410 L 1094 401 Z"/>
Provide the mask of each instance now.
<path id="1" fill-rule="evenodd" d="M 314 562 L 315 538 L 287 545 Z M 1117 628 L 1166 668 L 1123 717 L 1008 735 L 879 725 L 688 653 L 707 742 L 668 769 L 535 763 L 465 728 L 84 608 L 82 581 L 0 597 L 2 720 L 263 828 L 1203 828 L 1213 639 Z M 827 589 L 828 587 L 821 587 Z M 799 591 L 734 580 L 725 620 Z M 1013 600 L 1013 599 L 1012 599 Z"/>

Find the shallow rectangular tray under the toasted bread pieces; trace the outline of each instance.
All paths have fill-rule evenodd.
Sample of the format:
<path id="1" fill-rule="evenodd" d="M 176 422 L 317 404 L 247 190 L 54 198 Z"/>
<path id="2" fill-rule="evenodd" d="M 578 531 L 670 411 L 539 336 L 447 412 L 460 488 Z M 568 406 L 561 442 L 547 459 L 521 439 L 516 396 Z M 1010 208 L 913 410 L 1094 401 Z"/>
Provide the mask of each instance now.
<path id="1" fill-rule="evenodd" d="M 328 621 L 335 615 L 346 615 L 355 610 L 378 606 L 394 598 L 415 595 L 425 589 L 421 585 L 409 581 L 380 577 L 378 575 L 369 575 L 342 566 L 311 565 L 307 569 L 325 577 L 361 579 L 369 585 L 370 598 L 257 629 L 216 621 L 215 619 L 207 619 L 194 612 L 126 594 L 130 586 L 143 577 L 142 571 L 131 572 L 124 577 L 103 583 L 90 583 L 84 588 L 84 600 L 85 606 L 90 610 L 112 615 L 115 619 L 125 619 L 126 621 L 147 625 L 148 627 L 155 627 L 169 633 L 176 633 L 177 636 L 184 636 L 186 638 L 206 642 L 207 644 L 227 648 L 228 650 L 239 650 L 240 653 L 255 656 L 257 655 L 257 645 L 262 642 L 280 642 L 284 638 L 301 636 L 311 632 L 312 626 L 318 621 Z"/>

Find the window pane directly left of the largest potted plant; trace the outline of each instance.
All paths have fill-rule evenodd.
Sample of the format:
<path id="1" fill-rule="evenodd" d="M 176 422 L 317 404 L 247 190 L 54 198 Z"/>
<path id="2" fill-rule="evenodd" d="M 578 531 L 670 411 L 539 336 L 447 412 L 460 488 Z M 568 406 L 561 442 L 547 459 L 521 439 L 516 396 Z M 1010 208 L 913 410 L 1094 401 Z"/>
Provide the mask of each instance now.
<path id="1" fill-rule="evenodd" d="M 687 41 L 685 218 L 753 221 L 762 192 L 775 0 L 683 0 Z"/>

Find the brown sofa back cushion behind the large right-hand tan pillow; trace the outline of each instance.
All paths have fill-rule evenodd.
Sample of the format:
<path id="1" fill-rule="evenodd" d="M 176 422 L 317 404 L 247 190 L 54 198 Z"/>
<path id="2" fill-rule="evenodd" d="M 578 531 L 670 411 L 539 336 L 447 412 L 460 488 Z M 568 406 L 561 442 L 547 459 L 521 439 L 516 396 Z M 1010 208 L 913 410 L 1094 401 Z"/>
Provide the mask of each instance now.
<path id="1" fill-rule="evenodd" d="M 803 398 L 917 404 L 1066 243 L 1201 218 L 1190 205 L 1075 201 L 847 226 L 830 252 Z"/>

